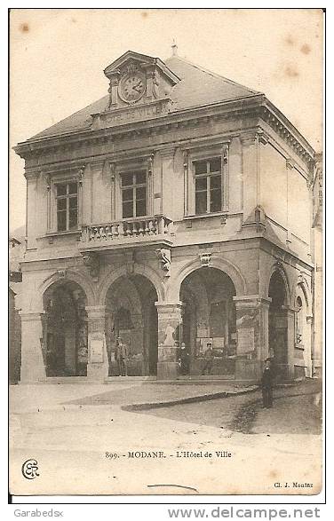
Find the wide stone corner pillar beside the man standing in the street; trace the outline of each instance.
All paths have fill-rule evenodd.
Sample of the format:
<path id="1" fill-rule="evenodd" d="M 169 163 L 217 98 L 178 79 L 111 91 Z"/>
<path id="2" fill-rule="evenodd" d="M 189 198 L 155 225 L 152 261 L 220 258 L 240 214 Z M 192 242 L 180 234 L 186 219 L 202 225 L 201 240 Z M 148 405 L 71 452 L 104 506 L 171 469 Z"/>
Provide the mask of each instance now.
<path id="1" fill-rule="evenodd" d="M 236 311 L 236 380 L 258 381 L 268 356 L 268 311 L 271 299 L 234 296 Z"/>

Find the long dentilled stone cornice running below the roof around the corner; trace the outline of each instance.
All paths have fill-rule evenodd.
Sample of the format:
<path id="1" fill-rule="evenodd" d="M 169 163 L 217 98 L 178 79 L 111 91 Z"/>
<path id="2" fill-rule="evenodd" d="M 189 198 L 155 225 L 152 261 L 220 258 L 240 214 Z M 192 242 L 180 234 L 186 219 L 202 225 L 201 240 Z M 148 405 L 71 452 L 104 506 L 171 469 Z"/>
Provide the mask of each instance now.
<path id="1" fill-rule="evenodd" d="M 114 144 L 123 139 L 149 138 L 159 132 L 187 130 L 210 122 L 233 119 L 239 116 L 257 116 L 266 122 L 274 132 L 282 138 L 295 154 L 306 162 L 309 167 L 314 164 L 314 150 L 301 136 L 289 120 L 276 109 L 263 94 L 257 94 L 243 99 L 227 100 L 223 103 L 203 105 L 201 107 L 187 108 L 180 111 L 171 111 L 154 119 L 138 122 L 125 122 L 120 125 L 99 130 L 91 128 L 75 131 L 73 133 L 42 138 L 35 141 L 25 141 L 14 147 L 20 157 L 28 159 L 47 153 L 64 153 L 70 150 L 84 150 L 89 146 Z M 240 133 L 243 133 L 241 130 Z M 250 137 L 251 138 L 251 137 Z M 254 136 L 255 138 L 255 136 Z M 243 140 L 246 137 L 243 138 Z M 266 144 L 266 134 L 259 130 L 258 139 Z"/>

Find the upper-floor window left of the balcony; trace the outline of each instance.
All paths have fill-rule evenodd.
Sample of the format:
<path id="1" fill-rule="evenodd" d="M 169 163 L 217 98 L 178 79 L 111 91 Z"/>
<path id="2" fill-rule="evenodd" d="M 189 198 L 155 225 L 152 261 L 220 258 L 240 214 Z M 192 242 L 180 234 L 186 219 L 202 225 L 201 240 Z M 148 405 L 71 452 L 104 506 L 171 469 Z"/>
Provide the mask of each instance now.
<path id="1" fill-rule="evenodd" d="M 77 218 L 77 182 L 56 185 L 57 231 L 76 230 Z"/>

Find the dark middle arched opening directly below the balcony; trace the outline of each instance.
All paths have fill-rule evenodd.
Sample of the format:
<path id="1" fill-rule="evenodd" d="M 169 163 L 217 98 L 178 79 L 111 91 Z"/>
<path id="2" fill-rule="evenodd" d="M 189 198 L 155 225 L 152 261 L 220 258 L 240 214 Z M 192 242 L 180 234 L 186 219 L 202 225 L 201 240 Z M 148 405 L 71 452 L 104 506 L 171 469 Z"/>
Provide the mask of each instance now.
<path id="1" fill-rule="evenodd" d="M 122 275 L 107 289 L 106 341 L 110 376 L 120 374 L 116 348 L 120 340 L 127 349 L 127 375 L 156 375 L 157 300 L 152 282 L 139 274 Z"/>

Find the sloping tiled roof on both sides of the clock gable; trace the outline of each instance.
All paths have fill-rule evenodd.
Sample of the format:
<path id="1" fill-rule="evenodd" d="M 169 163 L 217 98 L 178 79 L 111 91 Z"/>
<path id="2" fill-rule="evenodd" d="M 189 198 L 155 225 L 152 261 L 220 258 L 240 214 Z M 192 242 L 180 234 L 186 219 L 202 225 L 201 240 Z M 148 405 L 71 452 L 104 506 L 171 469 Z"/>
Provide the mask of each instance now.
<path id="1" fill-rule="evenodd" d="M 239 83 L 194 65 L 186 59 L 179 58 L 179 56 L 166 59 L 164 64 L 180 78 L 180 82 L 174 85 L 171 90 L 174 111 L 260 94 L 258 91 L 252 91 Z M 88 107 L 52 125 L 52 127 L 39 132 L 30 140 L 60 136 L 79 130 L 89 130 L 91 114 L 98 114 L 106 110 L 108 100 L 108 95 L 104 96 Z"/>

